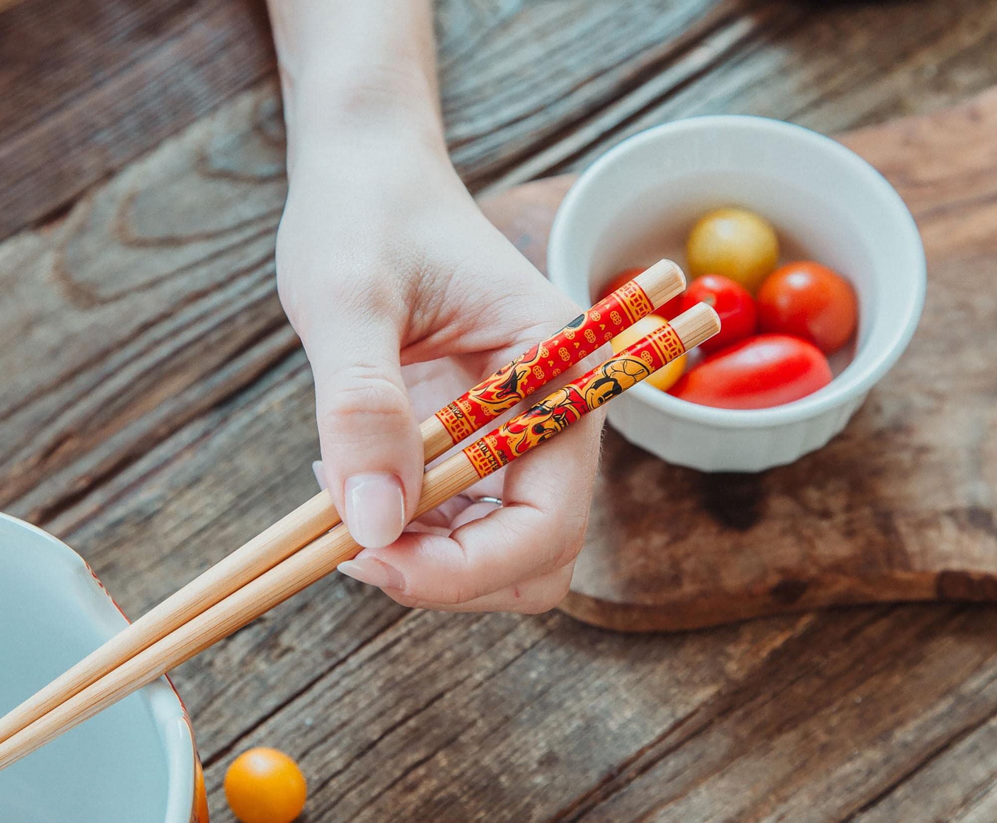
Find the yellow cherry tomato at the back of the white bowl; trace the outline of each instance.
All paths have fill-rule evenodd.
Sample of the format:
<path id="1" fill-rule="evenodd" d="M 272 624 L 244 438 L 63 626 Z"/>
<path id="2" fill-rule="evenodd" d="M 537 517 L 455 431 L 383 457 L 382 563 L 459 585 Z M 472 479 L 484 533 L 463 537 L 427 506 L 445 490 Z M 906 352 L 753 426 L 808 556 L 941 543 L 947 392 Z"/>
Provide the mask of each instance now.
<path id="1" fill-rule="evenodd" d="M 779 238 L 754 211 L 718 208 L 693 226 L 686 258 L 693 277 L 722 274 L 754 293 L 779 263 Z"/>

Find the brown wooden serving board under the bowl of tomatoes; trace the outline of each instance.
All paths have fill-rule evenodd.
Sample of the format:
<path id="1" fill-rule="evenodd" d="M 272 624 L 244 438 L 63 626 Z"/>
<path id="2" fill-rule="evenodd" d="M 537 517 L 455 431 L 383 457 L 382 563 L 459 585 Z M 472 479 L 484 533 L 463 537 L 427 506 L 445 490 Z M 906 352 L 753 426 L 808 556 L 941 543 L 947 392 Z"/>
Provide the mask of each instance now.
<path id="1" fill-rule="evenodd" d="M 928 290 L 910 348 L 831 443 L 761 474 L 671 466 L 607 429 L 568 614 L 670 631 L 997 600 L 997 90 L 841 141 L 896 186 L 922 233 Z M 541 269 L 570 183 L 484 203 Z"/>

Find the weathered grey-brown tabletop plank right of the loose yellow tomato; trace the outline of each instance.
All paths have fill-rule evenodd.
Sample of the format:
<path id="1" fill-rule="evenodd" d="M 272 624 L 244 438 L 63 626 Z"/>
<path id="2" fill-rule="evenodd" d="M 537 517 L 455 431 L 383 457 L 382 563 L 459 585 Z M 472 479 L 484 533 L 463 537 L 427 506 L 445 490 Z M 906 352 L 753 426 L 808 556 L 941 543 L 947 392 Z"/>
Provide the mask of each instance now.
<path id="1" fill-rule="evenodd" d="M 717 654 L 719 637 L 621 640 L 559 615 L 416 613 L 239 747 L 298 752 L 316 820 L 542 820 L 810 624 L 742 626 Z"/>

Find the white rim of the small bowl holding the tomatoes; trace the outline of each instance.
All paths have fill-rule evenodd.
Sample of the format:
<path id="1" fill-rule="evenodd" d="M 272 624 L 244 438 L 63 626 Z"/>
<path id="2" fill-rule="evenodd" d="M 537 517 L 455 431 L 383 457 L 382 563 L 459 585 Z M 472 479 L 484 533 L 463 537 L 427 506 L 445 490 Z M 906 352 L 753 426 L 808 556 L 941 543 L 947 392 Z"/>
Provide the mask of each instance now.
<path id="1" fill-rule="evenodd" d="M 717 428 L 763 428 L 811 419 L 842 406 L 853 398 L 863 396 L 889 371 L 913 337 L 920 320 L 927 289 L 924 247 L 910 209 L 882 173 L 837 140 L 797 124 L 756 115 L 702 115 L 651 127 L 627 137 L 587 166 L 565 194 L 550 228 L 547 244 L 547 275 L 551 283 L 571 294 L 571 287 L 577 283 L 577 278 L 573 278 L 568 270 L 567 262 L 567 243 L 571 224 L 576 212 L 587 198 L 588 190 L 607 169 L 647 143 L 683 133 L 721 128 L 740 130 L 743 134 L 750 133 L 752 137 L 775 133 L 783 138 L 802 140 L 811 147 L 824 151 L 829 158 L 848 168 L 863 180 L 870 193 L 880 198 L 885 206 L 883 213 L 888 214 L 889 219 L 894 222 L 903 241 L 902 248 L 907 250 L 907 259 L 898 261 L 898 265 L 904 266 L 908 271 L 911 285 L 908 299 L 902 306 L 904 312 L 902 321 L 897 324 L 888 345 L 867 359 L 863 359 L 865 362 L 859 364 L 860 368 L 851 368 L 858 361 L 856 357 L 828 386 L 807 398 L 783 406 L 751 410 L 716 409 L 689 403 L 643 385 L 635 386 L 629 394 L 661 412 Z M 586 297 L 589 278 L 590 272 L 584 272 Z"/>

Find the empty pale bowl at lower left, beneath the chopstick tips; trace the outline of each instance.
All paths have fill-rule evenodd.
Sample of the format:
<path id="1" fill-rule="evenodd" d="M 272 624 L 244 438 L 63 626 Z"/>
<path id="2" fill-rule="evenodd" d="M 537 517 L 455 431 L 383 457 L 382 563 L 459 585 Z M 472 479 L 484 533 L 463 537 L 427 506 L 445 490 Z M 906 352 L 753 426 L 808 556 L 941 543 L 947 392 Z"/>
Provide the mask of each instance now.
<path id="1" fill-rule="evenodd" d="M 0 514 L 0 714 L 127 623 L 83 558 Z M 195 768 L 164 678 L 0 771 L 0 820 L 191 823 Z"/>

